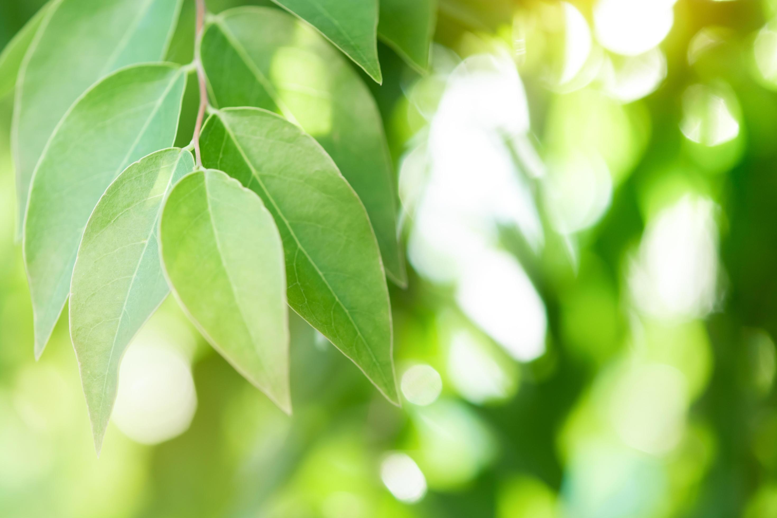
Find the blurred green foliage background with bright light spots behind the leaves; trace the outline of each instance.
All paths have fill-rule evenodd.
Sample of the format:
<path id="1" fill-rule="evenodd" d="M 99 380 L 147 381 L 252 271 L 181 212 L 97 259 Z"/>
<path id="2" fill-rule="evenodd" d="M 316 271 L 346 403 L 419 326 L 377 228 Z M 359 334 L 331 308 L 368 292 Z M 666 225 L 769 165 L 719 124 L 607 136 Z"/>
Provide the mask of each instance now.
<path id="1" fill-rule="evenodd" d="M 0 0 L 0 43 L 41 3 Z M 0 99 L 0 516 L 777 516 L 777 4 L 663 2 L 671 30 L 629 56 L 608 46 L 643 34 L 608 33 L 608 3 L 440 0 L 427 75 L 380 45 L 384 84 L 367 83 L 414 268 L 407 290 L 392 287 L 402 408 L 293 318 L 288 418 L 169 300 L 149 325 L 191 362 L 193 420 L 155 445 L 111 425 L 99 459 L 67 322 L 33 360 L 13 241 L 12 99 Z M 192 40 L 186 2 L 169 59 L 191 61 Z M 504 102 L 510 171 L 528 186 L 507 209 L 537 212 L 533 231 L 497 217 L 489 246 L 529 287 L 505 311 L 494 301 L 514 294 L 498 282 L 441 280 L 450 254 L 423 246 L 447 227 L 423 234 L 433 191 L 414 187 L 447 178 L 434 139 L 455 134 L 435 120 L 462 59 L 482 54 L 509 57 L 528 106 L 527 130 L 515 129 L 510 103 L 523 94 L 491 98 L 497 76 L 472 82 L 485 93 L 469 92 L 467 124 L 491 106 L 478 100 Z M 177 144 L 192 127 L 181 121 Z M 485 183 L 500 164 L 490 156 L 470 157 L 482 167 L 464 179 L 489 196 L 500 189 Z M 454 233 L 444 252 L 466 238 Z M 540 349 L 503 339 L 504 322 L 538 329 Z M 434 372 L 406 379 L 418 364 Z"/>

